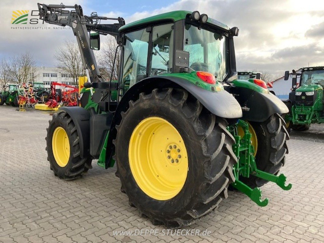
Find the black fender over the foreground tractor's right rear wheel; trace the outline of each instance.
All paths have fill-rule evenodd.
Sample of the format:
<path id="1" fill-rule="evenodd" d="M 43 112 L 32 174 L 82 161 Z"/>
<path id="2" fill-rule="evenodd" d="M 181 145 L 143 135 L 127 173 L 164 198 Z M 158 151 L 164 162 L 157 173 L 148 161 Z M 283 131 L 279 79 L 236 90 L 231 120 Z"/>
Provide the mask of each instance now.
<path id="1" fill-rule="evenodd" d="M 248 88 L 235 87 L 233 89 L 235 97 L 243 110 L 242 119 L 251 122 L 264 122 L 272 114 L 285 114 L 289 112 L 288 107 L 278 97 L 271 92 L 259 93 Z"/>

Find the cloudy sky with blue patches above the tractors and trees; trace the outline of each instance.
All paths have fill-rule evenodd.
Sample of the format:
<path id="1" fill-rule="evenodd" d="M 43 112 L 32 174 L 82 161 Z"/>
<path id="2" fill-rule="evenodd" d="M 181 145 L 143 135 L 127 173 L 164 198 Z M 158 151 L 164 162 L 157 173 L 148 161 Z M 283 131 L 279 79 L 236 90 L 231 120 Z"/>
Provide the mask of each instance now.
<path id="1" fill-rule="evenodd" d="M 62 1 L 43 3 L 60 4 Z M 237 26 L 240 29 L 239 36 L 235 37 L 238 71 L 283 75 L 285 70 L 324 66 L 323 0 L 64 1 L 65 5 L 75 3 L 83 7 L 85 15 L 97 12 L 101 16 L 121 16 L 126 23 L 174 10 L 198 10 L 229 27 Z M 0 1 L 0 58 L 8 59 L 29 51 L 37 65 L 55 67 L 55 51 L 64 40 L 75 39 L 72 30 L 11 29 L 13 26 L 53 26 L 12 25 L 13 10 L 37 10 L 37 1 Z"/>

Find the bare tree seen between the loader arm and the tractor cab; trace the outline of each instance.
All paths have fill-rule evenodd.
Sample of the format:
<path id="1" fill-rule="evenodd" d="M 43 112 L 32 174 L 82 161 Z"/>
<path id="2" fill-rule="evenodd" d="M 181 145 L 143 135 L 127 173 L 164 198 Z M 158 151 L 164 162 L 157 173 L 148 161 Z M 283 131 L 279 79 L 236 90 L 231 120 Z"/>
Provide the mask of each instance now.
<path id="1" fill-rule="evenodd" d="M 109 80 L 112 73 L 112 80 L 118 79 L 118 70 L 119 70 L 119 60 L 120 60 L 120 49 L 117 50 L 116 55 L 116 61 L 115 66 L 113 66 L 114 58 L 115 58 L 115 52 L 118 44 L 116 42 L 116 39 L 112 36 L 107 36 L 105 42 L 102 45 L 102 51 L 101 53 L 96 53 L 97 60 L 98 60 L 98 66 L 101 76 Z"/>

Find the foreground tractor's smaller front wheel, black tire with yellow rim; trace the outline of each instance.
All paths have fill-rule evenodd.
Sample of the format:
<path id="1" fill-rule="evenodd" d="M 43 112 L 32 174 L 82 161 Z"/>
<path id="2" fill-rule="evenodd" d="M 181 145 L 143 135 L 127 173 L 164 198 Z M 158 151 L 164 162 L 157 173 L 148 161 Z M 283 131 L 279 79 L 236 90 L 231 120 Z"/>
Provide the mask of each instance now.
<path id="1" fill-rule="evenodd" d="M 91 158 L 80 157 L 80 139 L 72 118 L 64 111 L 53 115 L 47 129 L 47 160 L 55 176 L 73 180 L 92 168 Z"/>

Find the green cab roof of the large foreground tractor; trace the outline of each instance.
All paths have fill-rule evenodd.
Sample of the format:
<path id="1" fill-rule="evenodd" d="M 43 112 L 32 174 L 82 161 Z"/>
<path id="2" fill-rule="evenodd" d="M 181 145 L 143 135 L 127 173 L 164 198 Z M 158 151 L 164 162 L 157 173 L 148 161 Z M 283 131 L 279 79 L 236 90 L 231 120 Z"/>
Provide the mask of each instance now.
<path id="1" fill-rule="evenodd" d="M 178 20 L 185 19 L 186 16 L 191 13 L 192 12 L 189 12 L 189 11 L 178 10 L 178 11 L 173 11 L 173 12 L 168 12 L 168 13 L 164 13 L 164 14 L 147 17 L 144 19 L 134 21 L 127 25 L 121 26 L 119 28 L 119 32 L 126 32 L 126 31 L 129 31 L 129 30 L 135 29 L 137 27 L 141 27 L 141 26 L 144 27 L 144 26 L 154 23 L 154 22 L 168 21 L 168 20 L 176 22 Z M 220 27 L 220 28 L 223 28 L 223 29 L 226 29 L 226 30 L 229 30 L 227 25 L 225 25 L 215 19 L 209 18 L 209 17 L 208 17 L 207 23 L 212 24 L 217 27 Z"/>

